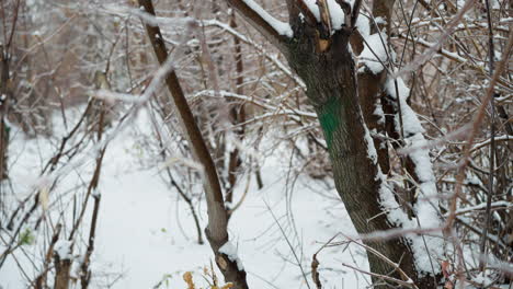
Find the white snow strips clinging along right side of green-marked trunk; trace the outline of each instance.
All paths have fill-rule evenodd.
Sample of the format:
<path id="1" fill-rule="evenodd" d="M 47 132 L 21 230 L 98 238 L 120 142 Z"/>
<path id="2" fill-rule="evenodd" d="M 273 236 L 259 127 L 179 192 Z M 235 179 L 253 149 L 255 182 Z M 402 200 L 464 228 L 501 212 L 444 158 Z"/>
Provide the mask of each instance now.
<path id="1" fill-rule="evenodd" d="M 401 79 L 398 79 L 397 82 L 399 100 L 401 101 L 401 111 L 403 118 L 406 119 L 403 122 L 404 134 L 407 135 L 404 140 L 408 146 L 422 146 L 425 142 L 425 139 L 422 136 L 424 130 L 419 119 L 417 118 L 417 115 L 406 102 L 406 97 L 409 95 L 409 89 Z M 394 80 L 388 79 L 385 89 L 394 99 L 397 99 Z M 367 146 L 368 158 L 373 160 L 374 163 L 376 163 L 376 149 L 371 138 L 371 134 L 366 127 L 365 142 Z M 383 174 L 380 167 L 377 166 L 378 171 L 376 174 L 376 180 L 381 182 L 379 192 L 380 205 L 387 210 L 387 218 L 389 222 L 399 228 L 404 230 L 438 229 L 442 227 L 442 223 L 437 213 L 437 190 L 429 151 L 426 149 L 412 150 L 409 153 L 409 157 L 415 163 L 415 174 L 419 176 L 420 181 L 419 190 L 421 196 L 418 196 L 419 199 L 413 208 L 417 215 L 417 219 L 410 219 L 404 212 L 403 208 L 401 208 L 401 206 L 397 203 L 392 190 L 387 184 L 387 177 Z M 421 274 L 432 274 L 433 270 L 435 274 L 438 273 L 440 265 L 437 263 L 437 258 L 443 255 L 444 247 L 441 232 L 435 231 L 430 235 L 407 234 L 407 239 L 410 240 L 410 246 L 415 257 L 417 269 Z"/>

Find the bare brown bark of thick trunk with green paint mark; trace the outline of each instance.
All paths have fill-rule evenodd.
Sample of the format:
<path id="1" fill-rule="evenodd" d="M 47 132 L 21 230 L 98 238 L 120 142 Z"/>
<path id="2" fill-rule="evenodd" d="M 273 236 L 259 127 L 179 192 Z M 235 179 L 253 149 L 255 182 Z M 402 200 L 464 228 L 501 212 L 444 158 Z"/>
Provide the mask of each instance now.
<path id="1" fill-rule="evenodd" d="M 380 207 L 381 180 L 377 177 L 377 160 L 369 154 L 374 143 L 365 141 L 371 138 L 360 106 L 354 60 L 347 49 L 351 33 L 338 31 L 331 36 L 329 47 L 319 53 L 315 37 L 301 35 L 315 35 L 311 27 L 299 25 L 290 42 L 288 60 L 305 81 L 307 96 L 319 117 L 337 190 L 360 234 L 392 229 Z M 417 277 L 412 252 L 403 239 L 365 243 L 400 264 L 411 278 Z M 394 271 L 390 265 L 373 254 L 368 254 L 368 261 L 373 273 L 389 275 Z M 400 279 L 397 274 L 395 277 Z"/>

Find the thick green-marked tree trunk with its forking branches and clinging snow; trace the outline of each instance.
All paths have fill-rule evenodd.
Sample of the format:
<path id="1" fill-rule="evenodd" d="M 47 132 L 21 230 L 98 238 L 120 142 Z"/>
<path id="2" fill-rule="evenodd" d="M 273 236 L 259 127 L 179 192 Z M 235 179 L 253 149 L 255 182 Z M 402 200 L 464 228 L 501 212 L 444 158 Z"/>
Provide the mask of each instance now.
<path id="1" fill-rule="evenodd" d="M 337 190 L 356 231 L 368 234 L 394 228 L 414 228 L 408 216 L 398 209 L 396 197 L 385 184 L 381 167 L 388 166 L 388 155 L 385 155 L 386 149 L 380 148 L 378 162 L 378 153 L 366 125 L 367 117 L 373 117 L 381 91 L 386 89 L 386 77 L 377 73 L 379 71 L 366 73 L 366 79 L 361 79 L 360 84 L 373 88 L 372 91 L 371 86 L 369 91 L 362 88 L 361 91 L 368 93 L 362 100 L 358 96 L 358 76 L 350 38 L 356 28 L 361 1 L 355 1 L 353 5 L 342 1 L 337 1 L 335 5 L 328 1 L 329 7 L 327 1 L 312 4 L 311 1 L 289 0 L 290 26 L 274 20 L 253 1 L 228 2 L 282 50 L 289 66 L 305 81 L 307 96 L 324 132 Z M 387 1 L 384 9 L 391 9 L 392 4 L 394 1 Z M 390 10 L 385 12 L 390 13 Z M 401 103 L 406 105 L 404 100 Z M 377 124 L 378 120 L 372 119 L 369 123 Z M 417 118 L 414 120 L 418 123 Z M 380 129 L 380 132 L 385 132 L 383 125 Z M 437 219 L 436 216 L 434 219 Z M 410 240 L 404 236 L 364 242 L 398 264 L 419 288 L 434 288 L 433 276 L 419 271 L 419 244 L 410 245 Z M 372 253 L 367 255 L 374 274 L 389 276 L 395 270 L 383 257 Z M 404 279 L 397 271 L 392 275 Z M 375 281 L 378 280 L 375 278 Z M 380 284 L 375 288 L 387 287 Z"/>

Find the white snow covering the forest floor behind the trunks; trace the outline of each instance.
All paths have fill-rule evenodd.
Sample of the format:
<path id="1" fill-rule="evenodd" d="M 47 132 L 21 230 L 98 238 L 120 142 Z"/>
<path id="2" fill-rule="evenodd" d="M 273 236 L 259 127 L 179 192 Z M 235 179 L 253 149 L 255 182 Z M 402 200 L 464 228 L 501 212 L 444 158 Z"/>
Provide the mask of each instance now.
<path id="1" fill-rule="evenodd" d="M 147 127 L 146 122 L 146 115 L 141 114 L 107 148 L 99 186 L 102 198 L 91 265 L 92 288 L 153 288 L 161 280 L 167 281 L 159 288 L 185 288 L 182 279 L 185 271 L 192 271 L 197 286 L 205 287 L 204 268 L 214 262 L 210 247 L 207 243 L 196 243 L 190 210 L 160 177 L 159 166 L 141 165 L 134 131 L 145 134 L 140 128 Z M 50 146 L 45 139 L 26 139 L 21 134 L 12 143 L 12 155 L 18 158 L 12 180 L 24 180 L 18 185 L 20 192 L 31 192 L 31 185 L 38 182 L 41 161 L 37 160 L 41 154 L 52 152 Z M 304 274 L 314 287 L 309 276 L 312 254 L 339 232 L 354 235 L 354 228 L 334 189 L 327 189 L 323 183 L 304 175 L 295 181 L 288 173 L 286 150 L 277 149 L 269 154 L 262 166 L 264 187 L 258 189 L 251 180 L 246 200 L 230 219 L 231 243 L 237 247 L 251 288 L 307 288 Z M 64 187 L 80 183 L 78 178 L 78 174 L 69 173 L 61 183 L 62 188 L 52 193 L 50 204 L 56 195 L 66 192 Z M 241 177 L 236 200 L 246 189 L 247 180 Z M 72 193 L 71 189 L 68 194 Z M 89 206 L 91 210 L 91 203 Z M 200 201 L 196 208 L 204 228 L 205 204 Z M 90 217 L 86 216 L 84 220 L 84 228 L 89 228 Z M 82 252 L 83 247 L 80 246 Z M 37 264 L 41 255 L 34 255 L 35 259 L 29 257 L 30 252 L 37 252 L 37 242 L 24 245 L 23 251 L 29 254 L 18 251 L 16 261 L 9 257 L 0 269 L 1 288 L 26 288 L 16 262 Z M 345 244 L 319 253 L 324 288 L 365 288 L 366 277 L 342 266 L 346 263 L 366 270 L 364 254 L 358 246 Z M 29 269 L 26 274 L 33 277 L 36 271 Z M 223 280 L 219 273 L 217 276 Z"/>

